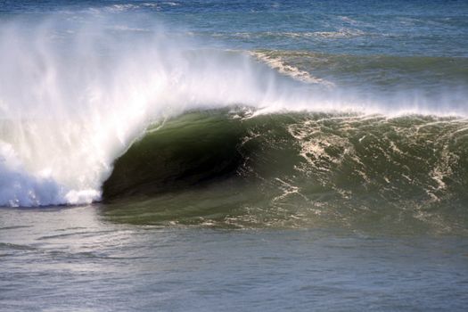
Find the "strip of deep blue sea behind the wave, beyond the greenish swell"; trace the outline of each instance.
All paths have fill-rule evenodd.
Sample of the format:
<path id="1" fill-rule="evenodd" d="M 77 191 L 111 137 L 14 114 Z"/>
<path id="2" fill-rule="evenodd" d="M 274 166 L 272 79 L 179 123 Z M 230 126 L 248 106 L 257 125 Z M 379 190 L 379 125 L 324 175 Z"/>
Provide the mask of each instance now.
<path id="1" fill-rule="evenodd" d="M 466 57 L 466 1 L 4 1 L 4 15 L 28 13 L 145 14 L 242 49 Z M 147 20 L 147 21 L 145 21 Z M 122 21 L 125 24 L 125 21 Z M 333 37 L 333 33 L 343 33 Z M 314 33 L 316 35 L 314 35 Z M 330 33 L 327 37 L 326 34 Z"/>

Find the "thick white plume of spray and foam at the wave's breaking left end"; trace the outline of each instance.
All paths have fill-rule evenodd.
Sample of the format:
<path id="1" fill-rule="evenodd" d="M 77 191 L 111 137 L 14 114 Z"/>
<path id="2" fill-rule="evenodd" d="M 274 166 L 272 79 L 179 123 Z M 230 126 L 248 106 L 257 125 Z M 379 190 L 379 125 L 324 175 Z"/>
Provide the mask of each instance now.
<path id="1" fill-rule="evenodd" d="M 254 73 L 247 55 L 193 51 L 161 29 L 113 36 L 109 20 L 86 19 L 3 25 L 0 205 L 99 200 L 112 161 L 151 120 L 275 93 L 275 77 Z"/>

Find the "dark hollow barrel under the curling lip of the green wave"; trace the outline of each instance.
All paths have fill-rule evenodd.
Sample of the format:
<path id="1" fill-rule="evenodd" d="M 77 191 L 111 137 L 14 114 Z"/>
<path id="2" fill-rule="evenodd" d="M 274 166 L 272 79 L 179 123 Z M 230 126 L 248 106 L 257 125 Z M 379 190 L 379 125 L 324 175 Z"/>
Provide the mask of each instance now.
<path id="1" fill-rule="evenodd" d="M 137 140 L 114 162 L 103 200 L 151 196 L 232 177 L 242 166 L 239 120 L 192 113 Z"/>

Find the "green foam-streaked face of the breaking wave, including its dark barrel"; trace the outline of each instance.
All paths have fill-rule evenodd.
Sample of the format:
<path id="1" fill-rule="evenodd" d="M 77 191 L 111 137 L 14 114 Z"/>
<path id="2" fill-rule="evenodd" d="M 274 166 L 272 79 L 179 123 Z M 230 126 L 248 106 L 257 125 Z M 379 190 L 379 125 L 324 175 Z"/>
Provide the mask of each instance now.
<path id="1" fill-rule="evenodd" d="M 102 209 L 138 224 L 464 232 L 467 184 L 465 120 L 199 111 L 115 161 Z"/>

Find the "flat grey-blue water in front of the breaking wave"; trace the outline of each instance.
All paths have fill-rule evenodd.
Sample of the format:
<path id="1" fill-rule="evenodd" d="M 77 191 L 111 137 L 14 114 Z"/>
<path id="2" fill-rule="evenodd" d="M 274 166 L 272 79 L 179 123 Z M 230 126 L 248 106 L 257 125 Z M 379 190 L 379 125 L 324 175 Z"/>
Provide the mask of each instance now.
<path id="1" fill-rule="evenodd" d="M 342 228 L 128 226 L 96 207 L 6 209 L 0 300 L 12 311 L 462 311 L 453 236 Z"/>

